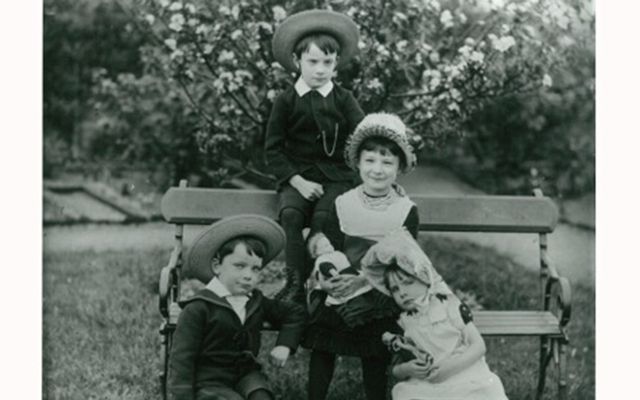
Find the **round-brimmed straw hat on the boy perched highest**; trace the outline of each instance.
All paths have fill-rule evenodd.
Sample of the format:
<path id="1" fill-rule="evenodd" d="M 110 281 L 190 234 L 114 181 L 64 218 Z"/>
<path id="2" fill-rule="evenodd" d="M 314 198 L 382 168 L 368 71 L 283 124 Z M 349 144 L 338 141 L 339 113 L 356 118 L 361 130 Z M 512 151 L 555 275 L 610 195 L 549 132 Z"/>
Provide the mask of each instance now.
<path id="1" fill-rule="evenodd" d="M 347 65 L 358 52 L 360 33 L 351 18 L 335 11 L 307 10 L 291 15 L 276 28 L 272 41 L 276 61 L 289 71 L 297 71 L 293 50 L 300 39 L 311 33 L 326 33 L 340 43 L 338 68 Z"/>

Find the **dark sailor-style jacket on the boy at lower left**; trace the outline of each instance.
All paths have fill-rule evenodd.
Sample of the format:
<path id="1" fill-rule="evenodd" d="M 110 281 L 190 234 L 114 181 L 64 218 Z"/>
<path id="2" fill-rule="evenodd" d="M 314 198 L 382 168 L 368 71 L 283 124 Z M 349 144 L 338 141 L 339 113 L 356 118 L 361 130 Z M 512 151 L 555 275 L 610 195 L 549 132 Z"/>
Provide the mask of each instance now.
<path id="1" fill-rule="evenodd" d="M 259 370 L 255 357 L 264 321 L 280 331 L 276 345 L 292 353 L 305 324 L 301 306 L 268 299 L 259 290 L 246 304 L 244 324 L 225 299 L 208 289 L 180 305 L 169 364 L 169 391 L 179 400 L 193 400 L 196 390 L 211 382 L 233 388 L 244 375 Z"/>

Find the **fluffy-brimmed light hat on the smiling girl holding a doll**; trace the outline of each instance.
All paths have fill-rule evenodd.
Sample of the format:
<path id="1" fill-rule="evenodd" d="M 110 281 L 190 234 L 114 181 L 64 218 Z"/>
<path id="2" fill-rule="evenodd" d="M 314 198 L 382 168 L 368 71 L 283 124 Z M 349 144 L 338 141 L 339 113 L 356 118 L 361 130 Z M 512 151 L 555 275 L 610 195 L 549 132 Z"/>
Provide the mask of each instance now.
<path id="1" fill-rule="evenodd" d="M 390 139 L 400 147 L 405 160 L 405 165 L 400 171 L 403 174 L 411 171 L 418 163 L 414 149 L 409 143 L 407 127 L 400 117 L 395 114 L 373 113 L 360 121 L 345 146 L 344 158 L 349 167 L 357 169 L 360 145 L 365 139 L 374 136 Z"/>

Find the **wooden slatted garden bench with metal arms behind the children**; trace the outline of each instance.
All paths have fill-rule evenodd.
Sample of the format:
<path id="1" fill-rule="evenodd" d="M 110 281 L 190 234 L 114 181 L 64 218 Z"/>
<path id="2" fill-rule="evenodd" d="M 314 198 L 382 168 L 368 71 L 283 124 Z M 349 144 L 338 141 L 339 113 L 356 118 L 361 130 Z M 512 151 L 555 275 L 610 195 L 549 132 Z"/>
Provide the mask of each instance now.
<path id="1" fill-rule="evenodd" d="M 475 323 L 484 336 L 533 336 L 540 338 L 536 398 L 542 396 L 546 369 L 554 360 L 558 375 L 558 397 L 567 396 L 567 324 L 571 315 L 569 281 L 559 276 L 547 256 L 547 234 L 558 221 L 556 205 L 539 189 L 534 196 L 424 196 L 410 195 L 420 214 L 420 231 L 504 232 L 539 236 L 540 310 L 475 311 Z M 162 198 L 164 219 L 175 225 L 175 240 L 169 263 L 160 274 L 162 334 L 162 392 L 166 396 L 168 354 L 179 314 L 184 225 L 208 225 L 240 213 L 261 214 L 276 219 L 277 195 L 270 190 L 189 188 L 186 181 L 170 188 Z"/>

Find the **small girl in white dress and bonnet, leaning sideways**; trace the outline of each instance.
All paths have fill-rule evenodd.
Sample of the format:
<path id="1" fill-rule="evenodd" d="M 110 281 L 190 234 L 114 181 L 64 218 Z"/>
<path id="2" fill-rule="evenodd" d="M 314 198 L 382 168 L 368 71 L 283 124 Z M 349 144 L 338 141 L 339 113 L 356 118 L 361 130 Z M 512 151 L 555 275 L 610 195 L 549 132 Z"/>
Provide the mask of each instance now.
<path id="1" fill-rule="evenodd" d="M 406 230 L 372 246 L 362 272 L 402 308 L 398 325 L 404 336 L 433 357 L 432 362 L 394 357 L 392 373 L 400 381 L 392 390 L 394 400 L 507 399 L 500 378 L 485 362 L 484 340 L 469 308 Z"/>

